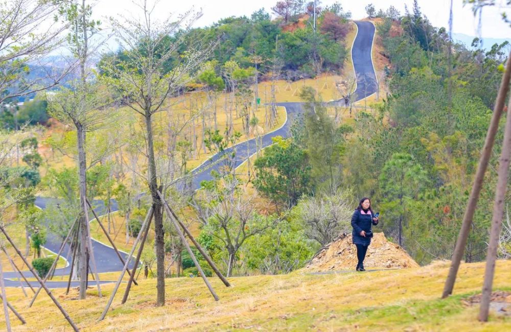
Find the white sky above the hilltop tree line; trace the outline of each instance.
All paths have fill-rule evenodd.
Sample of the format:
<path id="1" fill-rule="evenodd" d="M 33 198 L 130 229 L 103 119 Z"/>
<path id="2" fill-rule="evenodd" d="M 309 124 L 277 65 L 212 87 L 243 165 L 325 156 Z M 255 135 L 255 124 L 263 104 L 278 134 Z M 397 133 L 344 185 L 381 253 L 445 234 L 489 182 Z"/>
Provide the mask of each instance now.
<path id="1" fill-rule="evenodd" d="M 149 0 L 152 2 L 152 0 Z M 202 9 L 203 16 L 197 22 L 197 26 L 208 26 L 219 20 L 229 16 L 249 16 L 252 12 L 265 8 L 267 12 L 271 12 L 270 8 L 275 5 L 277 0 L 189 0 L 189 1 L 171 1 L 160 0 L 157 4 L 156 13 L 159 17 L 164 18 L 169 13 L 182 13 L 190 9 Z M 331 5 L 335 0 L 323 0 L 322 5 Z M 353 19 L 360 19 L 367 14 L 365 6 L 374 4 L 376 10 L 380 8 L 386 10 L 390 5 L 396 7 L 402 14 L 404 13 L 405 4 L 410 12 L 412 11 L 413 0 L 392 1 L 392 0 L 351 0 L 339 1 L 344 11 L 351 11 Z M 504 0 L 497 0 L 497 4 L 503 4 Z M 424 15 L 432 22 L 435 27 L 448 28 L 449 6 L 450 0 L 419 0 L 419 6 Z M 486 38 L 509 38 L 511 36 L 511 28 L 504 23 L 500 17 L 500 12 L 507 11 L 511 16 L 511 9 L 496 6 L 487 7 L 482 12 L 482 29 L 481 36 Z M 500 7 L 500 8 L 499 8 Z M 130 0 L 97 0 L 94 13 L 106 23 L 104 17 L 120 15 L 136 16 L 140 9 Z M 453 32 L 463 33 L 469 36 L 478 36 L 477 20 L 472 14 L 469 5 L 463 6 L 463 0 L 453 0 Z M 106 28 L 105 26 L 103 26 Z"/>

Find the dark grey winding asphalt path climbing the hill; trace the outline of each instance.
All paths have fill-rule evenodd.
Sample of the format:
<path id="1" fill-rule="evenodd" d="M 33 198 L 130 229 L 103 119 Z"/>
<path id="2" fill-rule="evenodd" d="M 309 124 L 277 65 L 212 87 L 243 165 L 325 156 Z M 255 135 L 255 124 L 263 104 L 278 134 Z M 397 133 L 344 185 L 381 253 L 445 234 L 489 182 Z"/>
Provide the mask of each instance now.
<path id="1" fill-rule="evenodd" d="M 353 58 L 353 67 L 357 76 L 357 88 L 353 93 L 353 96 L 356 96 L 354 102 L 364 99 L 365 97 L 370 96 L 371 94 L 377 91 L 377 79 L 374 72 L 373 60 L 371 58 L 373 39 L 375 35 L 375 26 L 373 23 L 368 21 L 355 21 L 358 32 L 355 37 L 355 41 L 352 47 L 352 58 Z M 335 101 L 339 103 L 340 101 Z M 303 108 L 301 107 L 303 103 L 278 103 L 278 106 L 284 106 L 287 111 L 287 119 L 284 125 L 281 128 L 278 128 L 275 131 L 267 133 L 262 136 L 262 147 L 267 147 L 273 143 L 272 138 L 275 136 L 288 137 L 290 136 L 290 127 L 293 123 L 294 118 L 303 113 Z M 211 172 L 219 171 L 219 168 L 222 166 L 222 158 L 225 154 L 236 151 L 236 160 L 235 167 L 241 165 L 248 157 L 255 154 L 257 152 L 257 147 L 255 145 L 255 139 L 249 139 L 242 143 L 239 143 L 233 147 L 226 149 L 221 154 L 216 154 L 212 156 L 210 159 L 206 160 L 202 163 L 198 168 L 192 171 L 192 187 L 193 189 L 198 189 L 200 187 L 200 183 L 203 180 L 211 180 Z M 44 209 L 50 204 L 57 204 L 58 201 L 52 198 L 45 197 L 37 197 L 35 204 Z M 101 201 L 94 202 L 95 206 L 98 206 L 95 210 L 97 214 L 100 216 L 104 214 L 105 207 Z M 112 201 L 112 211 L 117 210 L 117 202 Z M 90 219 L 91 220 L 91 219 Z M 60 248 L 60 244 L 62 239 L 58 238 L 55 234 L 48 234 L 48 240 L 45 244 L 45 248 L 49 249 L 53 252 L 58 252 Z M 114 272 L 121 271 L 123 269 L 123 265 L 121 264 L 119 257 L 115 254 L 115 251 L 95 240 L 92 240 L 92 248 L 94 250 L 94 257 L 96 259 L 96 265 L 98 268 L 98 273 L 102 272 Z M 64 254 L 68 252 L 68 246 L 64 249 Z M 128 254 L 121 252 L 121 254 L 126 258 Z M 65 256 L 64 256 L 65 257 Z M 133 263 L 131 263 L 131 267 L 133 268 Z M 49 288 L 65 288 L 67 286 L 67 282 L 65 281 L 65 276 L 69 274 L 69 264 L 65 268 L 57 269 L 55 271 L 54 280 L 61 279 L 63 276 L 63 281 L 47 281 L 46 284 Z M 17 281 L 17 273 L 15 272 L 5 272 L 5 283 L 8 287 L 19 287 L 19 282 Z M 33 277 L 33 275 L 27 271 L 24 272 L 26 277 Z M 100 281 L 111 282 L 111 281 Z M 33 287 L 38 287 L 37 282 L 31 282 Z M 91 286 L 95 286 L 95 281 L 89 280 L 89 284 Z M 78 286 L 78 282 L 72 282 L 72 286 Z"/>

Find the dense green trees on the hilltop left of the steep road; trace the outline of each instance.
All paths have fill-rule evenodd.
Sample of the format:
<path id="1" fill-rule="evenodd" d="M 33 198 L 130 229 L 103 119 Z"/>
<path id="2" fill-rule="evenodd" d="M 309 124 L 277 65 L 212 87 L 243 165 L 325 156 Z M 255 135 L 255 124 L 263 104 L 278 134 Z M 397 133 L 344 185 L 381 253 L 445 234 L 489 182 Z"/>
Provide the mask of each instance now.
<path id="1" fill-rule="evenodd" d="M 278 70 L 282 69 L 284 76 L 291 80 L 340 69 L 347 56 L 343 40 L 351 30 L 347 21 L 350 13 L 343 12 L 337 3 L 319 10 L 317 32 L 314 32 L 312 17 L 304 3 L 298 4 L 294 10 L 296 14 L 292 19 L 285 21 L 271 19 L 264 9 L 260 9 L 250 17 L 228 17 L 210 27 L 193 29 L 184 35 L 184 43 L 176 54 L 165 61 L 164 73 L 177 66 L 181 55 L 187 50 L 206 44 L 216 44 L 210 57 L 213 66 L 202 68 L 197 83 L 208 90 L 222 90 L 226 85 L 231 89 L 233 86 L 229 86 L 229 81 L 240 80 L 233 78 L 229 63 L 236 63 L 242 69 L 256 68 L 264 75 L 275 69 L 275 59 L 279 59 L 282 68 Z M 162 38 L 161 52 L 165 52 L 169 44 L 181 37 L 178 33 Z M 144 52 L 142 45 L 140 52 Z M 126 52 L 122 51 L 109 53 L 103 56 L 99 67 L 103 68 L 109 61 L 119 67 L 126 57 Z M 189 88 L 196 86 L 190 85 Z"/>

